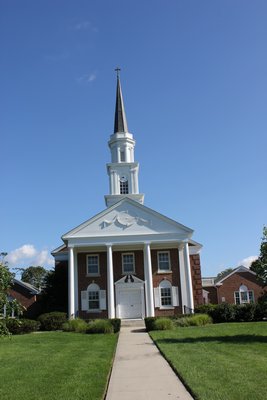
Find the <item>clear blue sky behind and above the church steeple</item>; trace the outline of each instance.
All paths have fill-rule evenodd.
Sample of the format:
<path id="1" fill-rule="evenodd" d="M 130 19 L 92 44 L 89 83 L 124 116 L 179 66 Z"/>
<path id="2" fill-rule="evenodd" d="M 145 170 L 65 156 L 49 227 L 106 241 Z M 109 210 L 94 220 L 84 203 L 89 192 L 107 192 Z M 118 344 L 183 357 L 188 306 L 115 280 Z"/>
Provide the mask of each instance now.
<path id="1" fill-rule="evenodd" d="M 1 251 L 52 267 L 105 208 L 116 77 L 145 204 L 195 230 L 202 274 L 259 252 L 265 0 L 0 1 Z"/>

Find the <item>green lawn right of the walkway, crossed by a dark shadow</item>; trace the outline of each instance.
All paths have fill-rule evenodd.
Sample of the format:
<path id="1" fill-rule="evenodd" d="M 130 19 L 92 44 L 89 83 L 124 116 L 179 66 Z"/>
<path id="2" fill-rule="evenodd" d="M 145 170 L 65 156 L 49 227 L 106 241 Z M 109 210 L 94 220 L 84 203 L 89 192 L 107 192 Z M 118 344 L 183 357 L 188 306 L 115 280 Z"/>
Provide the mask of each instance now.
<path id="1" fill-rule="evenodd" d="M 267 323 L 231 323 L 151 332 L 201 400 L 267 399 Z"/>

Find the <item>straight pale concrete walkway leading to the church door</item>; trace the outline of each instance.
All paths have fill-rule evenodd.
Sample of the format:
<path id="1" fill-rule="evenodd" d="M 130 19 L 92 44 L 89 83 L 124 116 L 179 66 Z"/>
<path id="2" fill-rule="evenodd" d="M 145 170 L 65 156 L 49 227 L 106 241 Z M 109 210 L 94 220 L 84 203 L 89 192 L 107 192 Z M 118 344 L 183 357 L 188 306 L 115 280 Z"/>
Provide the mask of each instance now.
<path id="1" fill-rule="evenodd" d="M 145 329 L 120 331 L 106 400 L 193 400 Z"/>

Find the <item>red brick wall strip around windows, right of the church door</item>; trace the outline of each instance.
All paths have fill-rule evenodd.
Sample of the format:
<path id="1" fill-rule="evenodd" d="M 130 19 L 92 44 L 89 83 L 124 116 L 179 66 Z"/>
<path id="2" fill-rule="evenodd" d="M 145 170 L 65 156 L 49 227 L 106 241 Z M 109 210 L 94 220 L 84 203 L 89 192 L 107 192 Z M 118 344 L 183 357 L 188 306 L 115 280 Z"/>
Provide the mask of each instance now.
<path id="1" fill-rule="evenodd" d="M 182 304 L 181 300 L 181 283 L 180 283 L 180 266 L 179 266 L 179 256 L 178 249 L 169 249 L 170 259 L 171 259 L 171 271 L 170 272 L 158 272 L 158 251 L 167 251 L 167 250 L 151 250 L 151 263 L 152 263 L 152 274 L 153 274 L 153 286 L 159 286 L 160 282 L 163 279 L 167 279 L 171 282 L 172 286 L 178 286 L 179 291 L 179 304 Z M 178 315 L 182 313 L 182 307 L 174 307 L 172 310 L 160 310 L 159 308 L 155 309 L 156 316 L 171 316 Z"/>

